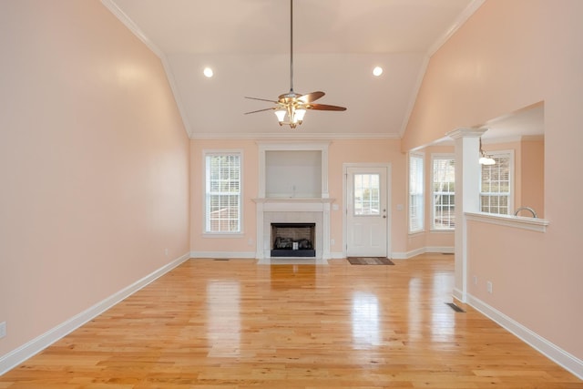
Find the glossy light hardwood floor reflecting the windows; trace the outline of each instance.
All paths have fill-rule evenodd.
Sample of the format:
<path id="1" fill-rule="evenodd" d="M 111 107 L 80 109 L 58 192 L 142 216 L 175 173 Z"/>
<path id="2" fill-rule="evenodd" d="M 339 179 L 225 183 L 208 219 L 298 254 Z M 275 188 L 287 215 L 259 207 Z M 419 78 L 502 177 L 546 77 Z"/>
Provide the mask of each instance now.
<path id="1" fill-rule="evenodd" d="M 446 302 L 453 256 L 394 266 L 190 260 L 0 377 L 0 388 L 583 388 Z"/>

